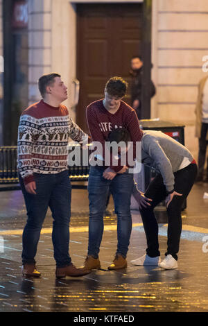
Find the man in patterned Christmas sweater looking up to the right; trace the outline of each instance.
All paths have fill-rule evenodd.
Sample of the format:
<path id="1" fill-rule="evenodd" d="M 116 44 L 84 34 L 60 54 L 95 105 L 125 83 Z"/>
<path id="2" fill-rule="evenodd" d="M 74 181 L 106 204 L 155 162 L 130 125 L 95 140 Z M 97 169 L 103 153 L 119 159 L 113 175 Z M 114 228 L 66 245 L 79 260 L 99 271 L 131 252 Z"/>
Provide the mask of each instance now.
<path id="1" fill-rule="evenodd" d="M 24 110 L 18 130 L 19 182 L 28 215 L 22 236 L 22 273 L 40 276 L 35 267 L 35 255 L 42 223 L 50 207 L 56 277 L 85 275 L 88 271 L 73 266 L 69 256 L 71 183 L 67 145 L 69 137 L 83 142 L 88 135 L 61 105 L 67 99 L 67 87 L 59 74 L 42 76 L 38 87 L 42 100 Z"/>

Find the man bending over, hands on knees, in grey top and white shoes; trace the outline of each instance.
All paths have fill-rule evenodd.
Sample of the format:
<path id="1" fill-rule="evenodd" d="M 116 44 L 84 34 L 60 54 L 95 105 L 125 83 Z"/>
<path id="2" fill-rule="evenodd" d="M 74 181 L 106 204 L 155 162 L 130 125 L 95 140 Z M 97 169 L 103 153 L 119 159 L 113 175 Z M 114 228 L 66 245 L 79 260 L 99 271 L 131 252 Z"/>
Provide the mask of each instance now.
<path id="1" fill-rule="evenodd" d="M 119 130 L 118 130 L 119 132 Z M 189 195 L 196 179 L 198 167 L 190 151 L 161 131 L 144 130 L 141 138 L 141 162 L 157 172 L 145 194 L 135 184 L 133 196 L 146 233 L 146 254 L 131 263 L 137 266 L 157 265 L 165 269 L 177 268 L 177 253 L 182 231 L 182 204 Z M 158 224 L 154 208 L 166 201 L 168 214 L 167 251 L 160 259 Z"/>

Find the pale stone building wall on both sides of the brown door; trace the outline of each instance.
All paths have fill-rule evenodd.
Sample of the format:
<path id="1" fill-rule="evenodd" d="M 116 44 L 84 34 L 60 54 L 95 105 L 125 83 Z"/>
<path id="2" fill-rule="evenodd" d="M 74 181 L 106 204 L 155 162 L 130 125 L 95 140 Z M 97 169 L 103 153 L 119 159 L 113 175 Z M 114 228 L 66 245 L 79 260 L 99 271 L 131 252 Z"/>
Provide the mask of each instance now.
<path id="1" fill-rule="evenodd" d="M 69 87 L 64 104 L 75 120 L 72 80 L 76 78 L 76 3 L 81 2 L 85 1 L 28 0 L 28 104 L 40 100 L 37 79 L 57 71 Z M 152 78 L 157 95 L 152 100 L 151 117 L 184 124 L 186 145 L 195 157 L 194 109 L 199 80 L 206 76 L 202 58 L 208 55 L 207 22 L 206 0 L 153 0 Z M 0 26 L 3 55 L 1 11 Z"/>

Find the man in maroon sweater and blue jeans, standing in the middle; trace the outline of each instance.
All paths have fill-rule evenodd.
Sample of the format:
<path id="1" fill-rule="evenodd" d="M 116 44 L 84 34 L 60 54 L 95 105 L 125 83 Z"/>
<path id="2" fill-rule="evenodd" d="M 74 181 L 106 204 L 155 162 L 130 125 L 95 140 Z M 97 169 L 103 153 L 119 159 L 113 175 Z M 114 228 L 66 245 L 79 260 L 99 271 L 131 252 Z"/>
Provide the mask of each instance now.
<path id="1" fill-rule="evenodd" d="M 128 164 L 122 166 L 121 160 L 117 164 L 106 164 L 104 151 L 108 134 L 115 128 L 126 128 L 135 147 L 141 141 L 142 132 L 139 120 L 134 109 L 122 101 L 127 89 L 125 80 L 113 77 L 105 85 L 105 98 L 95 101 L 87 107 L 87 123 L 93 141 L 98 141 L 103 148 L 100 156 L 103 166 L 90 166 L 89 171 L 89 245 L 85 259 L 87 270 L 101 267 L 98 259 L 101 240 L 103 237 L 103 213 L 107 194 L 111 191 L 114 198 L 117 214 L 118 245 L 113 263 L 108 269 L 119 269 L 127 266 L 126 255 L 132 230 L 130 214 L 130 198 L 133 188 L 133 174 L 128 171 Z M 101 161 L 100 161 L 101 162 Z"/>

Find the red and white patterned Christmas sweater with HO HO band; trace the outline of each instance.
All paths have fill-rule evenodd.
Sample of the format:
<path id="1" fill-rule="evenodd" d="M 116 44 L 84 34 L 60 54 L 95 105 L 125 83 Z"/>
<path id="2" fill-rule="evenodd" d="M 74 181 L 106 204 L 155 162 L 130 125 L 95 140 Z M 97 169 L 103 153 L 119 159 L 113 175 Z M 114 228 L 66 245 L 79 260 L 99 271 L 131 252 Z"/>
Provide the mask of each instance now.
<path id="1" fill-rule="evenodd" d="M 17 167 L 24 185 L 34 181 L 33 173 L 67 170 L 69 137 L 78 142 L 88 139 L 64 105 L 55 108 L 42 100 L 24 110 L 17 141 Z"/>

